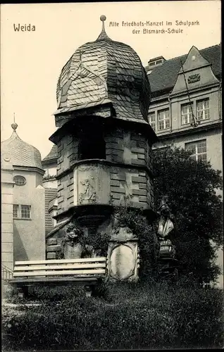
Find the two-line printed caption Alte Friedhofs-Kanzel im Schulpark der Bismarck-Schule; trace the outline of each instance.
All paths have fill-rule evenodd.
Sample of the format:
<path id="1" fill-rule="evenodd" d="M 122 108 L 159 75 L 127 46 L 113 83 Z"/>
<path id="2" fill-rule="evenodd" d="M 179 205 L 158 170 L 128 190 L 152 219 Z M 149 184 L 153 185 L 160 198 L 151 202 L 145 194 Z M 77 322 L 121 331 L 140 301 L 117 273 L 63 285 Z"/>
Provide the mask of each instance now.
<path id="1" fill-rule="evenodd" d="M 132 22 L 109 22 L 109 27 L 130 27 L 133 34 L 158 34 L 158 33 L 183 33 L 186 27 L 195 27 L 200 25 L 199 20 L 175 20 L 175 22 L 158 21 L 132 21 Z"/>

